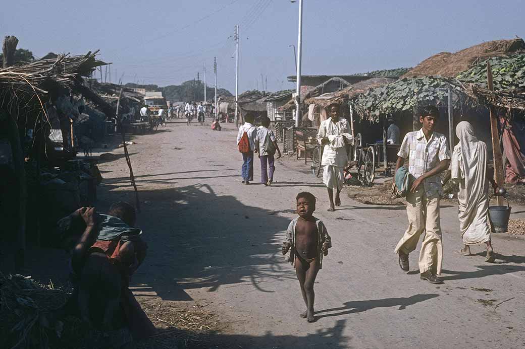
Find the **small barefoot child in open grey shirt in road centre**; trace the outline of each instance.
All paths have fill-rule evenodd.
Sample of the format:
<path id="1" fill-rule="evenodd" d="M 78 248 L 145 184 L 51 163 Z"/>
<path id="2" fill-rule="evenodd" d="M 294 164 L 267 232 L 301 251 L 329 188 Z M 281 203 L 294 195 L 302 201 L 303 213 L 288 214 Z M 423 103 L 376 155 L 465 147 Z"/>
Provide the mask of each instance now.
<path id="1" fill-rule="evenodd" d="M 312 215 L 316 210 L 316 197 L 309 192 L 301 192 L 297 195 L 296 201 L 299 217 L 288 225 L 282 254 L 288 253 L 286 260 L 296 268 L 302 298 L 306 304 L 306 311 L 299 316 L 306 318 L 308 322 L 314 322 L 316 320 L 313 317 L 315 299 L 313 283 L 322 267 L 323 255 L 328 256 L 332 241 L 323 222 Z"/>

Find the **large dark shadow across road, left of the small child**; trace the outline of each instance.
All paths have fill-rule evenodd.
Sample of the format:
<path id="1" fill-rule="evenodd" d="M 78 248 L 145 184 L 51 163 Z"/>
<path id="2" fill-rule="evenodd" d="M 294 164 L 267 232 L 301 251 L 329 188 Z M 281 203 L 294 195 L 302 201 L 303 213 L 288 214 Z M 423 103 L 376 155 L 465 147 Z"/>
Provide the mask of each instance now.
<path id="1" fill-rule="evenodd" d="M 118 193 L 133 202 L 131 190 Z M 104 195 L 114 198 L 114 192 L 101 193 L 102 200 Z M 143 205 L 137 223 L 149 250 L 132 279 L 135 295 L 190 300 L 187 289 L 213 292 L 238 284 L 274 292 L 266 282 L 295 279 L 278 251 L 283 236 L 279 232 L 290 220 L 275 211 L 218 196 L 205 184 L 141 191 L 140 199 L 152 204 Z"/>

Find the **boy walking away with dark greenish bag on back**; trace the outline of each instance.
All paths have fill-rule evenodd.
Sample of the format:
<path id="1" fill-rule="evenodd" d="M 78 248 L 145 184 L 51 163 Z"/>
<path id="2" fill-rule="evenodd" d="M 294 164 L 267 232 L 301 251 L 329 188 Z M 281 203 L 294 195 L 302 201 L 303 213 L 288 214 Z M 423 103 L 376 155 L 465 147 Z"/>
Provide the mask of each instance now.
<path id="1" fill-rule="evenodd" d="M 281 157 L 281 150 L 275 141 L 274 132 L 269 129 L 270 118 L 265 116 L 262 118 L 262 126 L 257 129 L 257 136 L 255 137 L 255 147 L 259 153 L 259 159 L 261 161 L 261 183 L 265 186 L 270 186 L 271 182 L 274 181 L 275 171 L 275 152 L 279 154 L 277 158 Z M 266 167 L 269 170 L 266 171 Z"/>

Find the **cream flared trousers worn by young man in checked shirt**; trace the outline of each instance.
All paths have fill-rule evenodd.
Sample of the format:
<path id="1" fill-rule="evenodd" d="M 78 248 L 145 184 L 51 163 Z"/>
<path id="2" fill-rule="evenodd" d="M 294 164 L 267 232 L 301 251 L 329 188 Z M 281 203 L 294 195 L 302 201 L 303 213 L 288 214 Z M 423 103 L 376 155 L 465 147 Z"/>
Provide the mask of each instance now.
<path id="1" fill-rule="evenodd" d="M 443 243 L 439 224 L 439 195 L 427 198 L 424 189 L 406 195 L 408 229 L 397 243 L 395 253 L 409 254 L 416 249 L 419 236 L 425 233 L 419 253 L 419 271 L 441 274 Z"/>

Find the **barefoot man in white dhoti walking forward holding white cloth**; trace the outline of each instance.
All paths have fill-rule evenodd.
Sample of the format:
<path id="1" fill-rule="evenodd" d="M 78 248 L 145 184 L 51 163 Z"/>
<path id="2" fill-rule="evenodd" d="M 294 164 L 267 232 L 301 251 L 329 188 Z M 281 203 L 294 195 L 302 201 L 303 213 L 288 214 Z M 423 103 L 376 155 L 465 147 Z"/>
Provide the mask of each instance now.
<path id="1" fill-rule="evenodd" d="M 335 206 L 341 206 L 339 194 L 343 188 L 343 170 L 348 163 L 346 154 L 346 144 L 352 140 L 350 135 L 350 125 L 344 118 L 339 117 L 339 104 L 333 103 L 328 106 L 330 117 L 321 122 L 317 140 L 323 148 L 321 166 L 323 169 L 323 183 L 328 188 L 328 198 L 330 208 L 328 211 L 335 211 Z M 333 190 L 335 189 L 335 202 L 333 200 Z"/>

